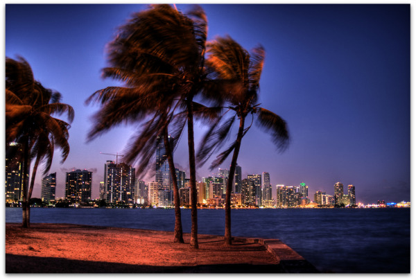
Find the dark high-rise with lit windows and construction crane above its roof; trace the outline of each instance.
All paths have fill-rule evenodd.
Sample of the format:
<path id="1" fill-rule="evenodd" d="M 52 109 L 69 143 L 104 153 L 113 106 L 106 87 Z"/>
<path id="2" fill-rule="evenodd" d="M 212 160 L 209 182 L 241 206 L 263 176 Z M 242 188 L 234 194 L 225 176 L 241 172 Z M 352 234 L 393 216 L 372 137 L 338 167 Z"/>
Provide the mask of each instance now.
<path id="1" fill-rule="evenodd" d="M 134 203 L 135 168 L 127 164 L 107 161 L 104 165 L 105 200 L 110 203 Z"/>

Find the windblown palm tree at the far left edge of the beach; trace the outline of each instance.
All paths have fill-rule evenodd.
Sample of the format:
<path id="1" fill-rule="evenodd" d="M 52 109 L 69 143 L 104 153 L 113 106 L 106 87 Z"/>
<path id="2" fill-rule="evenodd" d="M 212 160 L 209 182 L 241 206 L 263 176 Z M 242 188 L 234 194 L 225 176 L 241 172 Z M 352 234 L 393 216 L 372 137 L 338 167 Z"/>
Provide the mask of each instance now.
<path id="1" fill-rule="evenodd" d="M 54 118 L 53 114 L 67 113 L 69 122 L 73 120 L 71 106 L 60 103 L 61 94 L 45 89 L 33 78 L 31 66 L 19 57 L 6 58 L 6 145 L 19 144 L 20 149 L 11 150 L 14 154 L 8 159 L 23 161 L 23 227 L 30 226 L 30 205 L 33 186 L 39 164 L 44 161 L 44 175 L 51 168 L 53 152 L 62 151 L 62 162 L 69 155 L 69 123 Z M 29 163 L 35 159 L 35 166 L 28 188 Z"/>

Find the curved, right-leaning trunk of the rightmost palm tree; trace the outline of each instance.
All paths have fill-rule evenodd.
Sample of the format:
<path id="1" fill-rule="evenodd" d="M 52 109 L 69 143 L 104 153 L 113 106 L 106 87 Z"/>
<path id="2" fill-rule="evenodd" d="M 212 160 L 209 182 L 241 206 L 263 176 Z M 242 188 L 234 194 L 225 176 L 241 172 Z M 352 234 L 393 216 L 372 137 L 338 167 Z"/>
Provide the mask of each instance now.
<path id="1" fill-rule="evenodd" d="M 237 133 L 236 146 L 232 155 L 231 166 L 229 167 L 229 176 L 227 181 L 227 189 L 225 191 L 225 234 L 224 243 L 225 245 L 231 245 L 231 190 L 232 190 L 232 176 L 236 171 L 237 158 L 239 157 L 241 140 L 243 139 L 245 118 L 240 116 L 240 127 Z"/>

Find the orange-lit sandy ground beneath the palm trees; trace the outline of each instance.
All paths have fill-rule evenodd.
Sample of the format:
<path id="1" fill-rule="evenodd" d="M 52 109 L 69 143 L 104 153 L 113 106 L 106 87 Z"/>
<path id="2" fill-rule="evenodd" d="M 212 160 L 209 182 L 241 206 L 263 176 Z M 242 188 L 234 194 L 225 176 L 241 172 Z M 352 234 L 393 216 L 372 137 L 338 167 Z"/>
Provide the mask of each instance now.
<path id="1" fill-rule="evenodd" d="M 200 248 L 173 243 L 173 233 L 69 224 L 6 223 L 6 273 L 278 273 L 279 260 L 264 245 L 198 235 Z"/>

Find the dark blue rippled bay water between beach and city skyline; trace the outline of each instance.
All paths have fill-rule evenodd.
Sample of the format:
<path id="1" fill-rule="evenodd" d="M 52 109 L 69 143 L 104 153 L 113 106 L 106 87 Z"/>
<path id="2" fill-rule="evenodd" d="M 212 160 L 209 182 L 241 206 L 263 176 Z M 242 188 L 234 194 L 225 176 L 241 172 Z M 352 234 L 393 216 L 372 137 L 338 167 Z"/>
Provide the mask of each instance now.
<path id="1" fill-rule="evenodd" d="M 173 231 L 173 209 L 33 208 L 31 222 Z M 6 208 L 21 222 L 21 208 Z M 191 210 L 182 209 L 191 231 Z M 198 233 L 224 234 L 224 211 L 198 209 Z M 233 236 L 277 238 L 322 272 L 410 273 L 410 209 L 232 210 Z"/>

